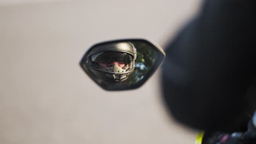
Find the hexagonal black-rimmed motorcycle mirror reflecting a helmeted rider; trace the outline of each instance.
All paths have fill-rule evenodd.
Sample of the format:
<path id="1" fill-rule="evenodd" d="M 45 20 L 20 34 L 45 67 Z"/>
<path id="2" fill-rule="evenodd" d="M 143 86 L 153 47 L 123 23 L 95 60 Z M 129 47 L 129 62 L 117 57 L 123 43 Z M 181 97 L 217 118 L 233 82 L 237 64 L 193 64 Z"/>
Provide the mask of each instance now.
<path id="1" fill-rule="evenodd" d="M 141 87 L 164 57 L 161 47 L 147 40 L 113 40 L 90 47 L 80 66 L 103 89 L 120 91 Z"/>

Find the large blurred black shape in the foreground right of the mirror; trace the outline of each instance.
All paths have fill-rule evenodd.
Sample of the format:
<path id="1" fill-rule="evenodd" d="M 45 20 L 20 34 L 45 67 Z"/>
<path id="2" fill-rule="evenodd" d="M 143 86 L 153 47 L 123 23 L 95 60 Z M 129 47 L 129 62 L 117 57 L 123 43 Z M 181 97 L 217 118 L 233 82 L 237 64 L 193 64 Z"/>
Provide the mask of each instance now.
<path id="1" fill-rule="evenodd" d="M 254 1 L 205 1 L 167 45 L 163 98 L 178 122 L 211 131 L 247 124 L 256 106 L 248 99 L 256 94 L 246 96 L 256 74 L 254 6 Z"/>

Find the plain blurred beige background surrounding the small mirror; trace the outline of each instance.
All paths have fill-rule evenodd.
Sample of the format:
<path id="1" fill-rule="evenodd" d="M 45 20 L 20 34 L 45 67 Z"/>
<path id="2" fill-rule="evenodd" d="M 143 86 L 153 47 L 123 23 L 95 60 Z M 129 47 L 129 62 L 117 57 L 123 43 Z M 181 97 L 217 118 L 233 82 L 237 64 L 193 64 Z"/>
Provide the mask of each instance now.
<path id="1" fill-rule="evenodd" d="M 79 67 L 95 43 L 160 46 L 201 1 L 0 0 L 0 143 L 194 143 L 161 101 L 158 70 L 141 88 L 107 92 Z"/>

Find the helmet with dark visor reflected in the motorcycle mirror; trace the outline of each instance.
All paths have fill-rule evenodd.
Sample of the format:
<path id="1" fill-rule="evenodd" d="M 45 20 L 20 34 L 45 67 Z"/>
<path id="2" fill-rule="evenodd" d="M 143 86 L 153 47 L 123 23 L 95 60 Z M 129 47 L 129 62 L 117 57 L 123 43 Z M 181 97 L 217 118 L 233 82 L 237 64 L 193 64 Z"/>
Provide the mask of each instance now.
<path id="1" fill-rule="evenodd" d="M 91 50 L 87 64 L 108 79 L 123 81 L 134 71 L 136 57 L 135 46 L 129 42 L 106 43 Z"/>

